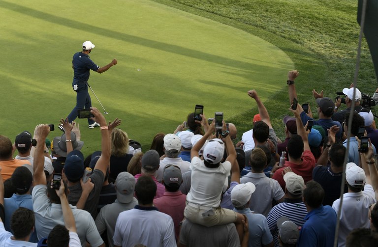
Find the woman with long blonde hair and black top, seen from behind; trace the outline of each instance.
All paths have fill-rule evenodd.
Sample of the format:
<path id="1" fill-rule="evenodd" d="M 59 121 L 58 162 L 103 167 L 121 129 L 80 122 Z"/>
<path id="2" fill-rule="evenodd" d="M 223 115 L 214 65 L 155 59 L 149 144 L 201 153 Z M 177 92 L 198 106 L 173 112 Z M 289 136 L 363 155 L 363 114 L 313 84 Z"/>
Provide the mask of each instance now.
<path id="1" fill-rule="evenodd" d="M 127 165 L 132 158 L 128 153 L 128 136 L 121 129 L 114 128 L 111 135 L 112 150 L 110 156 L 109 180 L 114 182 L 120 172 L 127 171 Z"/>

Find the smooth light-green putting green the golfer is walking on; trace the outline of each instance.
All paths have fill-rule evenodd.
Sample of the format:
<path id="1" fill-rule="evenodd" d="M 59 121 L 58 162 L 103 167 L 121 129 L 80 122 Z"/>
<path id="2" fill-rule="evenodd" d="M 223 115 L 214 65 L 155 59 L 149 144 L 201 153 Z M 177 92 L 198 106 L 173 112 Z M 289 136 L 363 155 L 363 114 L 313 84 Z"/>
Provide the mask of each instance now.
<path id="1" fill-rule="evenodd" d="M 149 145 L 172 133 L 195 104 L 225 119 L 282 89 L 293 68 L 283 51 L 250 33 L 149 0 L 79 2 L 0 0 L 1 134 L 14 137 L 38 123 L 58 124 L 75 104 L 72 55 L 85 40 L 104 74 L 90 85 L 129 137 Z M 93 94 L 92 103 L 101 108 Z M 84 152 L 99 148 L 99 134 L 78 120 Z M 50 139 L 61 135 L 50 134 Z"/>

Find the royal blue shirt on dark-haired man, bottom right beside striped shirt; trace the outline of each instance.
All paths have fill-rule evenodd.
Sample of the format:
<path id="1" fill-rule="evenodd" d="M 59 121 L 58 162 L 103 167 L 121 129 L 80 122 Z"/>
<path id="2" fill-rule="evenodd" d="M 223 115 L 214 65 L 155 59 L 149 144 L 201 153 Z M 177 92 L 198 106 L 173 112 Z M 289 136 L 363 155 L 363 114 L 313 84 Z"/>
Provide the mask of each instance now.
<path id="1" fill-rule="evenodd" d="M 336 230 L 336 212 L 331 206 L 311 210 L 304 219 L 298 247 L 333 247 Z"/>

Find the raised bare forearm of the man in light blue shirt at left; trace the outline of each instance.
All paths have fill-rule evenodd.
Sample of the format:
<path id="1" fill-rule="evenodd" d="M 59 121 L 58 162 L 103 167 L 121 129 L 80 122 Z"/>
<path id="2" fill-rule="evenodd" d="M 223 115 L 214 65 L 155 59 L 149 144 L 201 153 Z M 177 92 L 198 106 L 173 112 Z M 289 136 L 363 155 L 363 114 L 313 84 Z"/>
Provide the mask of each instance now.
<path id="1" fill-rule="evenodd" d="M 37 146 L 34 152 L 34 164 L 33 164 L 33 183 L 36 185 L 46 185 L 46 176 L 43 171 L 43 165 L 45 164 L 45 140 L 50 133 L 50 127 L 47 124 L 40 124 L 37 126 L 36 133 L 38 135 Z"/>

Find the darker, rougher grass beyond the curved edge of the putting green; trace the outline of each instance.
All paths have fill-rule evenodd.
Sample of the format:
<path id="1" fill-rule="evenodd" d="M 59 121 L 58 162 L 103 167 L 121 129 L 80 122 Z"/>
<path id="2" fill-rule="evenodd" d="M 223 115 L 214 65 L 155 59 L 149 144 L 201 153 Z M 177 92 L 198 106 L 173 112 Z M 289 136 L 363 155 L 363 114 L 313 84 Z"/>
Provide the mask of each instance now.
<path id="1" fill-rule="evenodd" d="M 156 0 L 250 32 L 282 49 L 300 71 L 296 85 L 300 103 L 315 101 L 311 90 L 328 97 L 353 81 L 359 26 L 355 0 Z M 265 105 L 278 136 L 283 138 L 282 117 L 289 103 L 284 86 L 286 73 L 277 78 L 282 90 L 272 93 Z M 363 42 L 358 88 L 373 94 L 377 80 L 371 55 Z M 253 102 L 231 119 L 240 135 L 250 129 Z"/>

